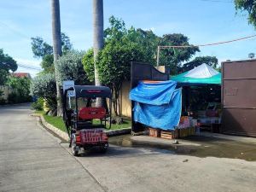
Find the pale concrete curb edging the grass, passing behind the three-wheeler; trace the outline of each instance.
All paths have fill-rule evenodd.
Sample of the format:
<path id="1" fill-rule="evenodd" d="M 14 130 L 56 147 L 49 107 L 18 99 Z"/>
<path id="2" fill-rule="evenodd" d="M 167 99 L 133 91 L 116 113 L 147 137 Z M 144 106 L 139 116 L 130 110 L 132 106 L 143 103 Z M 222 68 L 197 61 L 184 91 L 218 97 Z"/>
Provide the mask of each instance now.
<path id="1" fill-rule="evenodd" d="M 44 125 L 44 127 L 49 129 L 50 131 L 53 131 L 58 137 L 61 137 L 65 141 L 69 141 L 67 132 L 61 131 L 60 129 L 56 128 L 54 125 L 50 125 L 49 123 L 47 123 L 42 114 L 32 113 L 32 116 L 39 117 L 40 121 L 41 121 L 42 125 Z M 113 137 L 113 136 L 131 134 L 131 128 L 124 128 L 124 129 L 119 129 L 119 130 L 107 130 L 104 132 L 106 132 L 108 137 Z"/>

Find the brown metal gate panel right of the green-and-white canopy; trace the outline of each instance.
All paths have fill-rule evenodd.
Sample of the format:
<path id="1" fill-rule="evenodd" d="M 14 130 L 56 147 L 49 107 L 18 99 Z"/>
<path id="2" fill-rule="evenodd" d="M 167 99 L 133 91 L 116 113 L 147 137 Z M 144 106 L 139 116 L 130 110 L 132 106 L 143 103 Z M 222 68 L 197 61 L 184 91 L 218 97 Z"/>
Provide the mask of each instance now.
<path id="1" fill-rule="evenodd" d="M 222 63 L 222 132 L 256 137 L 256 60 Z"/>

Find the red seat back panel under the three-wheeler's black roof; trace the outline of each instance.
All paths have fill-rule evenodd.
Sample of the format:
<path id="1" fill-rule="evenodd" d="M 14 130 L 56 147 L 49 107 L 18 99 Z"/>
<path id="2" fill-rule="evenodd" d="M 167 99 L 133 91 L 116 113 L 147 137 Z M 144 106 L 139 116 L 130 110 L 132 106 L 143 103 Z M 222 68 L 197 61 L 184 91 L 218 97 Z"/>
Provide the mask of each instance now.
<path id="1" fill-rule="evenodd" d="M 106 115 L 105 108 L 80 108 L 79 119 L 103 119 Z"/>

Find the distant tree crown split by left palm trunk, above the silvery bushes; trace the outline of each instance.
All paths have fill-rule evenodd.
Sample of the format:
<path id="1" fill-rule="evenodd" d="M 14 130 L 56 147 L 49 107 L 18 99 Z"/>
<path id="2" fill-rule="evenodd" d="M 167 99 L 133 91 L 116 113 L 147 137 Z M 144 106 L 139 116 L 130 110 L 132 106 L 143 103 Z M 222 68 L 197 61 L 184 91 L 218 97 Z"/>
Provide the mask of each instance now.
<path id="1" fill-rule="evenodd" d="M 46 55 L 53 55 L 53 48 L 48 43 L 44 42 L 43 38 L 36 37 L 32 39 L 32 52 L 34 57 L 44 58 Z M 61 50 L 66 54 L 67 50 L 72 49 L 72 44 L 67 35 L 61 32 Z"/>

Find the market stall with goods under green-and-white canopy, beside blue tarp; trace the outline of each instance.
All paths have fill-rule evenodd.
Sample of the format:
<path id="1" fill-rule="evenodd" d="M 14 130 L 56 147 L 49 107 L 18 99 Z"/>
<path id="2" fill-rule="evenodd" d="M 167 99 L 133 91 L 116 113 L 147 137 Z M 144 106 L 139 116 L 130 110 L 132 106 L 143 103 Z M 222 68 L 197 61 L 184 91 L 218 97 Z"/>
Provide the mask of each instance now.
<path id="1" fill-rule="evenodd" d="M 201 128 L 219 132 L 221 73 L 207 64 L 202 64 L 171 79 L 183 87 L 183 116 L 197 119 Z"/>

